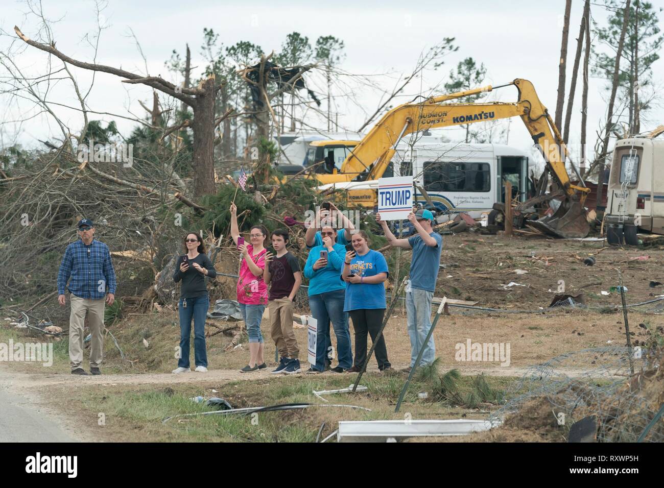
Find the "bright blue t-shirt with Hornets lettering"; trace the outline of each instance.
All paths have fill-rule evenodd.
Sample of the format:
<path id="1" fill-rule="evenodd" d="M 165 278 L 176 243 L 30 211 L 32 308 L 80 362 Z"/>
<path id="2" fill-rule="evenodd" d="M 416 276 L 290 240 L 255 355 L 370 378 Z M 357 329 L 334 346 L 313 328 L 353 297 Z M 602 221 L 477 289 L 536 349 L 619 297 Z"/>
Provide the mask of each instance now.
<path id="1" fill-rule="evenodd" d="M 341 268 L 343 271 L 343 268 Z M 378 273 L 389 273 L 385 257 L 378 251 L 369 250 L 364 256 L 355 255 L 351 260 L 351 274 L 376 276 Z M 385 308 L 384 283 L 349 283 L 346 282 L 346 298 L 343 311 L 357 309 Z"/>

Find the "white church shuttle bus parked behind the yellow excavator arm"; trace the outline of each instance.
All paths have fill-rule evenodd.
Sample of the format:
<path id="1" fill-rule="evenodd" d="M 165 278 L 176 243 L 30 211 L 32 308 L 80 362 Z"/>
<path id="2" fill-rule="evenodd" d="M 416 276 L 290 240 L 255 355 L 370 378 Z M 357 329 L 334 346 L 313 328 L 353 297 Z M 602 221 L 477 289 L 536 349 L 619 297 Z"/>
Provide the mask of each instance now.
<path id="1" fill-rule="evenodd" d="M 392 166 L 399 162 L 395 172 Z M 397 146 L 392 164 L 383 177 L 413 175 L 418 203 L 426 198 L 417 189 L 424 188 L 444 222 L 459 212 L 473 218 L 491 211 L 493 204 L 504 202 L 503 182 L 513 184 L 513 197 L 523 202 L 533 196 L 535 189 L 529 179 L 535 163 L 521 149 L 493 143 L 432 143 L 411 149 Z M 378 181 L 350 181 L 331 183 L 319 189 L 368 190 L 377 189 Z"/>

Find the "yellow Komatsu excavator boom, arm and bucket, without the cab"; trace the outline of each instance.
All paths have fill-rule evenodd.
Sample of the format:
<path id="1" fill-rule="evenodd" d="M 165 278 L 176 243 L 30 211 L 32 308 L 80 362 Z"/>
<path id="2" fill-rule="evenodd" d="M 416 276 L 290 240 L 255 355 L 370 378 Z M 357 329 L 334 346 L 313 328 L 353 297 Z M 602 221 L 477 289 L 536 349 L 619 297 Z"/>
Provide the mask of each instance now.
<path id="1" fill-rule="evenodd" d="M 497 88 L 515 86 L 519 92 L 517 102 L 454 103 L 454 100 L 469 95 L 491 92 Z M 449 103 L 444 103 L 449 102 Z M 560 131 L 540 102 L 533 84 L 517 78 L 500 86 L 484 86 L 464 92 L 436 96 L 420 103 L 402 104 L 387 112 L 365 137 L 351 149 L 340 172 L 331 175 L 316 175 L 323 184 L 345 181 L 369 181 L 382 177 L 399 141 L 410 133 L 435 127 L 450 127 L 466 123 L 486 122 L 511 117 L 520 117 L 526 125 L 534 143 L 546 161 L 546 169 L 537 184 L 535 197 L 519 204 L 517 214 L 552 199 L 562 198 L 557 210 L 528 224 L 562 238 L 578 238 L 588 235 L 584 202 L 590 193 L 585 186 L 573 185 L 565 169 L 567 149 Z M 580 185 L 583 179 L 576 172 Z M 552 176 L 552 188 L 546 194 L 548 175 Z"/>

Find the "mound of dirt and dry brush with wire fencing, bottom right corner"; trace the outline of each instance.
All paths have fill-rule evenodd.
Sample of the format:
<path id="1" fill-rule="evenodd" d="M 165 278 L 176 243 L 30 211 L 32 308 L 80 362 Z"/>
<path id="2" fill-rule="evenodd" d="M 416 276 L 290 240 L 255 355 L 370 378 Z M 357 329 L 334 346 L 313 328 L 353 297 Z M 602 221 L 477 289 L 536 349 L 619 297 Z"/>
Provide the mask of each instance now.
<path id="1" fill-rule="evenodd" d="M 661 418 L 646 432 L 664 403 L 662 349 L 632 357 L 633 375 L 628 353 L 626 347 L 584 349 L 534 366 L 514 387 L 520 394 L 492 415 L 504 422 L 489 437 L 531 431 L 540 441 L 568 442 L 571 426 L 592 417 L 596 442 L 637 442 L 642 435 L 644 442 L 664 442 Z"/>

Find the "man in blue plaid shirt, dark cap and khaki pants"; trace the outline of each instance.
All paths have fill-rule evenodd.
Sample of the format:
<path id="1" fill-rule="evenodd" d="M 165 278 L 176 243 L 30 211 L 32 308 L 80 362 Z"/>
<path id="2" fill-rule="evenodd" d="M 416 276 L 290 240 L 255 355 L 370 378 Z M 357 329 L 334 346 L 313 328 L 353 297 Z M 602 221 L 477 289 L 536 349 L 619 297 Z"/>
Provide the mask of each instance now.
<path id="1" fill-rule="evenodd" d="M 91 335 L 90 372 L 102 374 L 100 366 L 104 353 L 104 298 L 108 305 L 115 301 L 116 272 L 108 246 L 94 240 L 92 220 L 84 218 L 78 221 L 78 236 L 80 240 L 67 246 L 60 264 L 58 303 L 64 306 L 65 286 L 69 281 L 68 290 L 72 299 L 69 317 L 69 361 L 72 374 L 88 374 L 82 368 L 86 314 Z"/>

